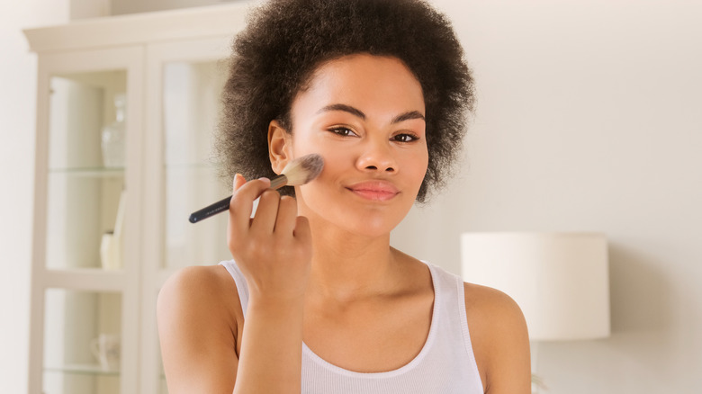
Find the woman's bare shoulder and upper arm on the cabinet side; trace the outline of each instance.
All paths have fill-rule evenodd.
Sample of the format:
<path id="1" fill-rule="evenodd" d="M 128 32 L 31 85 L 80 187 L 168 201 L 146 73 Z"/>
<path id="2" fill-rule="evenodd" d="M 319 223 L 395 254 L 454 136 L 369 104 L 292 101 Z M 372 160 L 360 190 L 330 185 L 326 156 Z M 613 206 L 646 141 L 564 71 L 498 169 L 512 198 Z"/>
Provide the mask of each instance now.
<path id="1" fill-rule="evenodd" d="M 224 267 L 187 267 L 168 278 L 158 294 L 157 320 L 169 392 L 231 392 L 241 315 Z"/>

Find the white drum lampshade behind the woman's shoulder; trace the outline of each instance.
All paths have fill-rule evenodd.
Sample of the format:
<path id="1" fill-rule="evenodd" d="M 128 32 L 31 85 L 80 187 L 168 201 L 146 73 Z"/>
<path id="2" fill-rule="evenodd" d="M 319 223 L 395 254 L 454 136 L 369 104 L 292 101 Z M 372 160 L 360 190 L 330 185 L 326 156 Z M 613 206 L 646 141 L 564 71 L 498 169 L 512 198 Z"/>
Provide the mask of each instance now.
<path id="1" fill-rule="evenodd" d="M 609 336 L 607 239 L 594 233 L 464 233 L 464 281 L 504 291 L 532 341 Z"/>

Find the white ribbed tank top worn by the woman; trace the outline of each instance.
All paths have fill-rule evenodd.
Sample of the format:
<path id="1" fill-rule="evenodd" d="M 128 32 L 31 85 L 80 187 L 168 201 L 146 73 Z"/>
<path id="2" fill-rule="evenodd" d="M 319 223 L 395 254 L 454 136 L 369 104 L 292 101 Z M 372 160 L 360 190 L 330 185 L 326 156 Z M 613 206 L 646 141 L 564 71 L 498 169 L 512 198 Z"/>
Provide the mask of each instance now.
<path id="1" fill-rule="evenodd" d="M 221 262 L 237 284 L 244 316 L 248 287 L 234 261 Z M 442 393 L 482 394 L 465 316 L 464 282 L 428 264 L 434 284 L 434 309 L 427 341 L 408 364 L 390 372 L 348 371 L 326 362 L 302 343 L 302 393 Z"/>

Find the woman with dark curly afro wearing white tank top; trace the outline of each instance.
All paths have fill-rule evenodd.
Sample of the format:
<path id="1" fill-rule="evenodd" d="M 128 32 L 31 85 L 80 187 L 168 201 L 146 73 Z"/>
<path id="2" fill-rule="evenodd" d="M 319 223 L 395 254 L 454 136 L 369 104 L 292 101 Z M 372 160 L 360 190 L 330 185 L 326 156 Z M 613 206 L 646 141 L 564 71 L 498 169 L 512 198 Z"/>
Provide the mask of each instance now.
<path id="1" fill-rule="evenodd" d="M 472 104 L 455 34 L 421 0 L 259 7 L 220 126 L 234 260 L 159 294 L 169 392 L 529 392 L 518 306 L 390 246 L 442 184 Z M 284 196 L 246 181 L 310 153 L 322 173 Z"/>

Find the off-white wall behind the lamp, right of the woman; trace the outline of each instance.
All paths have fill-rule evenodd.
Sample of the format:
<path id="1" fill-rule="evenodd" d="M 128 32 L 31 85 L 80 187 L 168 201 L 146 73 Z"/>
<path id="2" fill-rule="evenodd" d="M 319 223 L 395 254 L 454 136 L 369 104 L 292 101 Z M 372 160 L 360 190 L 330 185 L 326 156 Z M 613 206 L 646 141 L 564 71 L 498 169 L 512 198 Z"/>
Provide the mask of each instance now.
<path id="1" fill-rule="evenodd" d="M 702 392 L 702 2 L 435 3 L 478 111 L 462 175 L 393 239 L 460 273 L 464 231 L 604 232 L 613 335 L 541 345 L 546 392 Z"/>

